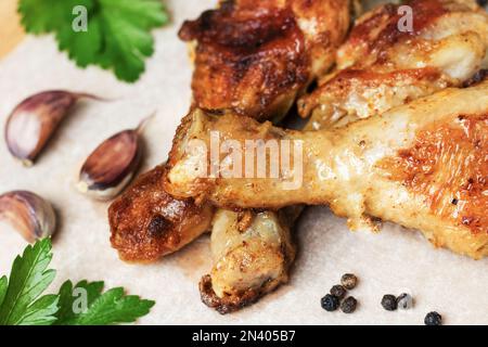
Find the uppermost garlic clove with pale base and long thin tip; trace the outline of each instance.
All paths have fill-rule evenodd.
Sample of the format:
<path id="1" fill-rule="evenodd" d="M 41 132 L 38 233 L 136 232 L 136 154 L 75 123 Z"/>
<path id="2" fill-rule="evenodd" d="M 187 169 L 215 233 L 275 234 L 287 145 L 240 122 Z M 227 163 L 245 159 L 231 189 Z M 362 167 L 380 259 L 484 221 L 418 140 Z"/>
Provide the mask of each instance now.
<path id="1" fill-rule="evenodd" d="M 33 165 L 61 120 L 80 98 L 100 100 L 85 93 L 50 90 L 21 102 L 5 125 L 5 141 L 10 153 L 24 165 Z"/>

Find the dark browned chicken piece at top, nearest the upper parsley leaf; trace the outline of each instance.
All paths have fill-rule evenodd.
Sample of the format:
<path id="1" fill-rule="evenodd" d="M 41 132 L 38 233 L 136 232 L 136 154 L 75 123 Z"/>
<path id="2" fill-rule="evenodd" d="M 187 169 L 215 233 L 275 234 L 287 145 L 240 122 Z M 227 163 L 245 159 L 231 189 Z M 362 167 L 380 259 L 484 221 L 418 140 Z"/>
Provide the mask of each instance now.
<path id="1" fill-rule="evenodd" d="M 196 107 L 280 118 L 331 68 L 350 23 L 345 0 L 229 0 L 188 21 Z"/>

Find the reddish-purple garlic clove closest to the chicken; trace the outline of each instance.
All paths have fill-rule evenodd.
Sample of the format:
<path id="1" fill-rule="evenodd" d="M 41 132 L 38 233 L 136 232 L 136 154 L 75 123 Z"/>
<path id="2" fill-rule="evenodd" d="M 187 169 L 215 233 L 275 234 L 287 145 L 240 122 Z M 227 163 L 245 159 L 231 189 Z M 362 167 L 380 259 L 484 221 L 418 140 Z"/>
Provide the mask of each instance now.
<path id="1" fill-rule="evenodd" d="M 79 174 L 78 190 L 99 201 L 108 201 L 131 181 L 141 160 L 139 129 L 120 131 L 100 144 Z"/>

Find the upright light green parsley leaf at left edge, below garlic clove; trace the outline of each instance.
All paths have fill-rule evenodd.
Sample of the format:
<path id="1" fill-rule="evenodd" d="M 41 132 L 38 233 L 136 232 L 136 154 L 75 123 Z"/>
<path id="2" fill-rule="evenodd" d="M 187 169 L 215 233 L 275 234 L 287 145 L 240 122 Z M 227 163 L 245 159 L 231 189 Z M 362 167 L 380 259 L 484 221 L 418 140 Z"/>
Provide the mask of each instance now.
<path id="1" fill-rule="evenodd" d="M 51 258 L 49 239 L 27 246 L 22 257 L 15 258 L 9 286 L 7 291 L 3 290 L 0 325 L 51 324 L 55 320 L 53 313 L 57 311 L 57 297 L 43 296 L 37 299 L 54 279 L 55 271 L 47 269 Z M 1 287 L 4 286 L 2 280 Z"/>

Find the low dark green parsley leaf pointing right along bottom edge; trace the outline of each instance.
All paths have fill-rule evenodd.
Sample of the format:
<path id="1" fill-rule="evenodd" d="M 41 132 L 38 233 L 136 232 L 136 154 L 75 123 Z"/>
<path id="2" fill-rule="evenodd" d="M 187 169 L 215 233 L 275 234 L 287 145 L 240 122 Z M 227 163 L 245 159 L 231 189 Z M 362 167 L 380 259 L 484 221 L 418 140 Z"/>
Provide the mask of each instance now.
<path id="1" fill-rule="evenodd" d="M 60 290 L 60 306 L 56 324 L 62 325 L 111 325 L 131 323 L 149 313 L 154 301 L 124 294 L 117 287 L 102 294 L 103 282 L 79 282 L 75 287 L 70 281 Z M 81 304 L 85 300 L 84 305 Z M 81 311 L 85 309 L 85 311 Z M 76 313 L 76 311 L 80 312 Z"/>

